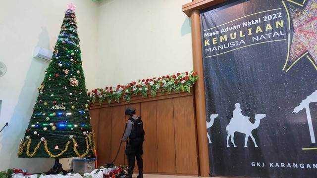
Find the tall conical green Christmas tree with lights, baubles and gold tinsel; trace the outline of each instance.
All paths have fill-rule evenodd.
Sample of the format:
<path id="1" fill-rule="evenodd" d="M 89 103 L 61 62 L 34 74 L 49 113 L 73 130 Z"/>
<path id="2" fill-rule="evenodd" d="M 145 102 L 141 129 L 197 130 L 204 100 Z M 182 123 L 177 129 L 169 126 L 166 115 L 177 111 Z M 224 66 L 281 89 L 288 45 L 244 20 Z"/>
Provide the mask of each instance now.
<path id="1" fill-rule="evenodd" d="M 19 157 L 88 157 L 95 151 L 74 10 L 68 5 Z"/>

